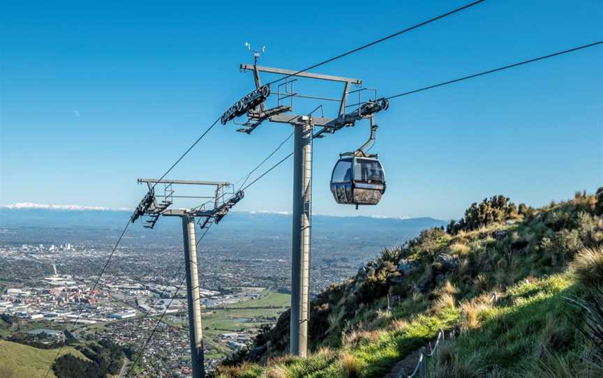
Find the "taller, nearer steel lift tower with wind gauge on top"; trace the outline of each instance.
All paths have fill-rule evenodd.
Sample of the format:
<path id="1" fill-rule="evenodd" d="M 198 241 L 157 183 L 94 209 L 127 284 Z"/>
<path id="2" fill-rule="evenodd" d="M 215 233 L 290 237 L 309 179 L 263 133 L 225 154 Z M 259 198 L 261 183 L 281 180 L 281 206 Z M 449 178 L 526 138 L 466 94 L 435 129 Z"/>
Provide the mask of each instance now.
<path id="1" fill-rule="evenodd" d="M 309 317 L 309 282 L 310 282 L 310 239 L 311 239 L 311 209 L 312 209 L 312 141 L 322 138 L 325 134 L 335 133 L 347 126 L 354 126 L 356 121 L 370 119 L 382 109 L 387 109 L 389 103 L 385 98 L 359 101 L 352 112 L 346 113 L 346 102 L 350 93 L 358 93 L 367 89 L 361 88 L 350 91 L 352 84 L 360 86 L 362 81 L 348 77 L 321 75 L 318 73 L 299 72 L 282 68 L 270 68 L 255 63 L 241 64 L 242 72 L 253 73 L 255 90 L 234 103 L 221 117 L 223 124 L 246 114 L 247 121 L 239 132 L 250 134 L 260 126 L 262 121 L 288 123 L 294 128 L 295 147 L 293 162 L 293 222 L 292 222 L 292 276 L 291 276 L 291 320 L 290 320 L 290 353 L 306 357 L 308 353 L 308 317 Z M 279 84 L 276 93 L 276 107 L 265 109 L 265 100 L 271 94 L 268 85 L 262 86 L 260 73 L 285 75 L 285 82 Z M 297 78 L 341 82 L 344 84 L 343 93 L 337 99 L 316 98 L 304 96 L 293 91 L 293 83 Z M 281 88 L 284 89 L 281 92 Z M 369 90 L 370 91 L 370 90 Z M 338 115 L 334 118 L 315 117 L 311 114 L 290 114 L 293 109 L 293 98 L 308 98 L 315 100 L 331 100 L 339 103 Z M 287 105 L 281 105 L 288 102 Z M 319 106 L 319 108 L 322 107 Z M 318 109 L 318 108 L 316 108 Z M 316 110 L 315 109 L 315 110 Z M 314 133 L 315 128 L 320 128 Z"/>

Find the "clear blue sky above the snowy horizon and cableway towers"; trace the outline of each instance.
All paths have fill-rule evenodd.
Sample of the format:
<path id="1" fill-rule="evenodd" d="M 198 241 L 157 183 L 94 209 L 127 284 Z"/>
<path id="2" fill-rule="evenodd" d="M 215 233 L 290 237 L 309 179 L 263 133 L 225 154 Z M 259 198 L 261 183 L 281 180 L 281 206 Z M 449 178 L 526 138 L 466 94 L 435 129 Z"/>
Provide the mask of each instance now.
<path id="1" fill-rule="evenodd" d="M 4 3 L 0 203 L 133 207 L 144 194 L 137 177 L 161 176 L 252 89 L 238 70 L 252 61 L 245 41 L 267 46 L 262 65 L 300 69 L 465 3 Z M 315 72 L 359 77 L 391 96 L 602 40 L 600 20 L 600 0 L 490 0 Z M 382 202 L 355 211 L 329 192 L 338 153 L 368 135 L 359 123 L 315 142 L 313 211 L 458 218 L 491 195 L 537 206 L 593 192 L 603 183 L 602 67 L 603 47 L 593 47 L 393 100 L 371 151 L 387 174 Z M 168 177 L 236 181 L 290 133 L 274 123 L 251 136 L 236 128 L 216 126 Z M 291 186 L 292 161 L 237 209 L 289 211 Z"/>

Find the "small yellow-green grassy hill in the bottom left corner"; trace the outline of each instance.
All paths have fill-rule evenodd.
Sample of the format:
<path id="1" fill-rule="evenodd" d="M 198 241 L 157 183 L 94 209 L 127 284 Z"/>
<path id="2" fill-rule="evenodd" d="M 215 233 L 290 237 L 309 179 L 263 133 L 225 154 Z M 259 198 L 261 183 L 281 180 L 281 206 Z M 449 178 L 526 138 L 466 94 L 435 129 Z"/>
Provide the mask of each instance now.
<path id="1" fill-rule="evenodd" d="M 61 350 L 61 356 L 64 354 L 73 354 L 73 356 L 89 361 L 73 347 L 64 347 Z M 57 349 L 38 349 L 29 347 L 29 345 L 0 340 L 0 377 L 42 378 L 55 356 L 57 356 Z M 52 370 L 48 377 L 55 377 Z"/>

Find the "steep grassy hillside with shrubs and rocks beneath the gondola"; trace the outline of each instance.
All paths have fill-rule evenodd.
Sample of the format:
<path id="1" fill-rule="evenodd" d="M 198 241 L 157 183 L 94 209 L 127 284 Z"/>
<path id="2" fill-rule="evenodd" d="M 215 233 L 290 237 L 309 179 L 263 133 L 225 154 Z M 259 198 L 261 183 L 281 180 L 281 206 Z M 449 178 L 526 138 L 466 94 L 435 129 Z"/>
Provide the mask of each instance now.
<path id="1" fill-rule="evenodd" d="M 472 204 L 315 298 L 309 358 L 286 354 L 284 312 L 216 375 L 383 377 L 441 327 L 433 377 L 601 377 L 602 213 L 603 189 L 542 209 Z"/>

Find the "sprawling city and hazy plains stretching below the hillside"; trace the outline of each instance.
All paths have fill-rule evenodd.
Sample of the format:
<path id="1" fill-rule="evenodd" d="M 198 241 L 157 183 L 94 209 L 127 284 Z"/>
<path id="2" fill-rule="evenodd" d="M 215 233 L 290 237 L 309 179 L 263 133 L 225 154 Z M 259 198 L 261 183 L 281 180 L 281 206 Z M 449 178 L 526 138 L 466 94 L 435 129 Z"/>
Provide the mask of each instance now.
<path id="1" fill-rule="evenodd" d="M 190 375 L 184 253 L 177 225 L 165 222 L 156 232 L 133 229 L 105 267 L 117 238 L 113 227 L 127 213 L 0 210 L 3 339 L 48 347 L 65 338 L 109 339 L 133 356 L 147 344 L 135 375 Z M 28 221 L 40 212 L 46 227 L 31 227 Z M 90 221 L 92 215 L 98 218 Z M 251 345 L 290 305 L 290 217 L 232 213 L 226 222 L 228 228 L 213 227 L 198 246 L 208 371 Z M 383 247 L 442 222 L 316 216 L 315 224 L 322 227 L 313 234 L 311 296 L 355 274 Z M 343 231 L 338 230 L 341 224 Z M 381 232 L 371 232 L 376 226 Z M 361 242 L 358 229 L 372 239 Z M 131 363 L 126 359 L 124 368 Z"/>

